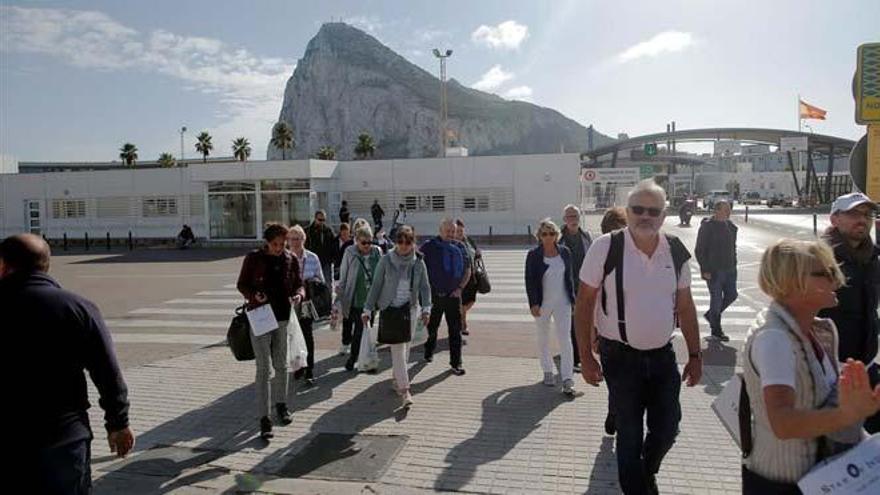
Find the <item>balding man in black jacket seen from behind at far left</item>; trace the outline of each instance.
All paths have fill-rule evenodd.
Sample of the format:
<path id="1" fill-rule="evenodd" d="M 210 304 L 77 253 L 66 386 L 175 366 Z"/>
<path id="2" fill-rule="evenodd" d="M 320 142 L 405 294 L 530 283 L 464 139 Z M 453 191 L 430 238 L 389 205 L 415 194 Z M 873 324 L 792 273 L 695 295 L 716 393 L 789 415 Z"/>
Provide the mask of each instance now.
<path id="1" fill-rule="evenodd" d="M 49 246 L 21 234 L 0 243 L 0 311 L 10 323 L 9 349 L 29 351 L 12 384 L 18 406 L 11 444 L 21 448 L 33 493 L 89 493 L 91 440 L 88 389 L 94 382 L 104 409 L 110 450 L 134 446 L 128 426 L 128 388 L 98 308 L 62 289 L 48 275 Z M 15 359 L 11 356 L 10 359 Z M 14 462 L 18 460 L 15 459 Z"/>

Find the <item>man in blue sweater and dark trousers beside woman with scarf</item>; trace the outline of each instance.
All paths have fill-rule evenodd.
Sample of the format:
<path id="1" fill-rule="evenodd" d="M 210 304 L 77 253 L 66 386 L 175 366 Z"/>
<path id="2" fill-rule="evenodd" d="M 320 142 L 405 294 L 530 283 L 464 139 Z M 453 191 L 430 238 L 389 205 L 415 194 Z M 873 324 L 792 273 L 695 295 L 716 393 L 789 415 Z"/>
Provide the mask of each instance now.
<path id="1" fill-rule="evenodd" d="M 455 222 L 444 218 L 440 222 L 440 235 L 422 244 L 421 252 L 431 282 L 431 319 L 428 321 L 425 361 L 433 361 L 437 329 L 445 314 L 449 328 L 449 365 L 452 373 L 460 376 L 464 374 L 461 363 L 461 292 L 471 278 L 471 267 L 465 246 L 455 240 Z"/>

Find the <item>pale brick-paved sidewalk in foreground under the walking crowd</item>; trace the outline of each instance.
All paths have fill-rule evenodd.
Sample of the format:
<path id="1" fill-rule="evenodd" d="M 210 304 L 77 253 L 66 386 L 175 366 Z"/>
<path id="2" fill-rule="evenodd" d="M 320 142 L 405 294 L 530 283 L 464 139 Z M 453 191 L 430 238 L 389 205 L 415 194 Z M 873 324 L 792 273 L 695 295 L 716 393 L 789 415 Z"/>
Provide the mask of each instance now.
<path id="1" fill-rule="evenodd" d="M 396 410 L 387 351 L 377 375 L 347 373 L 341 357 L 319 351 L 317 386 L 296 384 L 294 422 L 270 444 L 257 436 L 254 364 L 225 347 L 129 369 L 136 452 L 111 456 L 95 405 L 95 493 L 619 493 L 604 386 L 576 377 L 582 395 L 567 400 L 539 383 L 537 359 L 467 350 L 462 377 L 447 372 L 445 352 L 432 364 L 412 353 L 409 412 Z M 682 433 L 661 493 L 740 493 L 739 451 L 709 407 L 733 372 L 706 367 L 703 383 L 682 387 Z M 320 433 L 366 437 L 310 446 Z"/>

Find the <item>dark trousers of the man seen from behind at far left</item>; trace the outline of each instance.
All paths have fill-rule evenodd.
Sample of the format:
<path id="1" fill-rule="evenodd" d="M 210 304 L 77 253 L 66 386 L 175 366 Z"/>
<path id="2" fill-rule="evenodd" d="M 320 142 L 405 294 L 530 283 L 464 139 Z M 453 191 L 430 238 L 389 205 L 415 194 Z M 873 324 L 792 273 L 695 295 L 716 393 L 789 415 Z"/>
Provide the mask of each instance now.
<path id="1" fill-rule="evenodd" d="M 92 492 L 91 440 L 42 449 L 37 454 L 35 493 L 81 495 Z"/>

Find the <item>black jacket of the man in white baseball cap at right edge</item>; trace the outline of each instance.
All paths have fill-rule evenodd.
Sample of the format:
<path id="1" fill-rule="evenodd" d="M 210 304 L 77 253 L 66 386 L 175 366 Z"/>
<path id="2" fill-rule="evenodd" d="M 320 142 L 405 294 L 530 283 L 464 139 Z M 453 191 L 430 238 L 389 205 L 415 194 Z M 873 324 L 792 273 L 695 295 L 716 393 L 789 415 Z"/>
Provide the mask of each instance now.
<path id="1" fill-rule="evenodd" d="M 880 320 L 877 318 L 878 284 L 880 284 L 880 248 L 867 263 L 854 260 L 847 246 L 833 246 L 834 258 L 846 277 L 846 285 L 837 289 L 837 306 L 819 312 L 822 318 L 831 318 L 840 338 L 838 358 L 858 359 L 870 364 L 877 356 L 877 336 Z"/>

